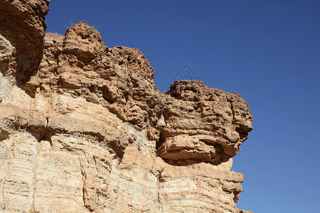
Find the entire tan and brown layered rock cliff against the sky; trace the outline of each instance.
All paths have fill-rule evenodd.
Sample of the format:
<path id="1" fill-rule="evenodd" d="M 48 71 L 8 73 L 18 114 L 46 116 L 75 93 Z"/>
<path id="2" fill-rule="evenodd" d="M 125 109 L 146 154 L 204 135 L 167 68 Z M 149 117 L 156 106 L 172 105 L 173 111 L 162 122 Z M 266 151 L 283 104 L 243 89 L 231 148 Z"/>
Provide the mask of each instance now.
<path id="1" fill-rule="evenodd" d="M 0 212 L 245 212 L 240 95 L 161 93 L 139 50 L 85 22 L 45 34 L 48 4 L 0 0 Z"/>

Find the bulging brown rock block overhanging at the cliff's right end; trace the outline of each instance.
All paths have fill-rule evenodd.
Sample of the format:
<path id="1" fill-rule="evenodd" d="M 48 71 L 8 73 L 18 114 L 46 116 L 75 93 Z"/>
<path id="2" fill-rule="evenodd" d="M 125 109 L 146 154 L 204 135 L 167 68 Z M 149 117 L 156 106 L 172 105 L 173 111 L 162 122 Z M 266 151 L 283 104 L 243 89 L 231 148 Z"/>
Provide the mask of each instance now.
<path id="1" fill-rule="evenodd" d="M 227 162 L 252 130 L 250 109 L 239 94 L 179 81 L 167 95 L 159 143 L 159 155 L 167 163 Z"/>

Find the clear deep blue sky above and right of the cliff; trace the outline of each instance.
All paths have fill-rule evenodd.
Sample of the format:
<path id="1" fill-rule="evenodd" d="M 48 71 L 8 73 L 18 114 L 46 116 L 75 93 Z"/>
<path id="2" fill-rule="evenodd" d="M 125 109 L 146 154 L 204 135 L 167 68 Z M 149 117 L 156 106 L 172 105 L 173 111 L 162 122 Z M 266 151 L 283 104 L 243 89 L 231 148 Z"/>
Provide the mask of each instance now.
<path id="1" fill-rule="evenodd" d="M 320 1 L 55 1 L 47 32 L 87 21 L 105 44 L 139 48 L 156 86 L 184 65 L 237 92 L 255 119 L 234 158 L 238 207 L 320 212 Z"/>

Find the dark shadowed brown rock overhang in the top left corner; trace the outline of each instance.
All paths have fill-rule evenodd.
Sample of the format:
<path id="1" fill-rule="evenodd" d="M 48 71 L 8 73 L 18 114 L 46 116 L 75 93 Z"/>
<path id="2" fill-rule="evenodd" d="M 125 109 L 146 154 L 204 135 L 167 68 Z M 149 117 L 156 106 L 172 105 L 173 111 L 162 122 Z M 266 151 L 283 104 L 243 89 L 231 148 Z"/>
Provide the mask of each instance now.
<path id="1" fill-rule="evenodd" d="M 18 85 L 29 80 L 41 61 L 48 4 L 49 0 L 0 1 L 0 32 L 15 47 L 7 72 Z"/>

